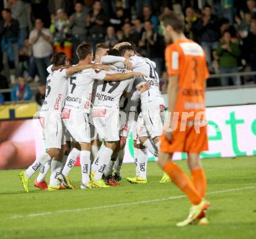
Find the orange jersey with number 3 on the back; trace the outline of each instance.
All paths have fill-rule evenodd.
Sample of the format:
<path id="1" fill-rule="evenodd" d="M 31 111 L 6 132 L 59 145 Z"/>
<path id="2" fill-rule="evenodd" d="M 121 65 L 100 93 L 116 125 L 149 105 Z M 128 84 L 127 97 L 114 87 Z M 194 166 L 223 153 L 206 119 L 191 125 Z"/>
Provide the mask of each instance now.
<path id="1" fill-rule="evenodd" d="M 205 110 L 205 79 L 209 71 L 204 50 L 189 39 L 170 44 L 165 50 L 168 75 L 179 75 L 179 89 L 175 112 Z M 181 115 L 180 115 L 181 116 Z"/>

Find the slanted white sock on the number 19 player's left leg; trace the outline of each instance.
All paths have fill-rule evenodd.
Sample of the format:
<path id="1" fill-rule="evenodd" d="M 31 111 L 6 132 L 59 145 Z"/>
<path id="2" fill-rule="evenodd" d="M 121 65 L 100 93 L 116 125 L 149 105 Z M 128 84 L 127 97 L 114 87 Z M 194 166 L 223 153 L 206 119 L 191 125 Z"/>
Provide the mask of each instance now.
<path id="1" fill-rule="evenodd" d="M 104 149 L 102 149 L 101 155 L 99 155 L 98 157 L 97 171 L 95 172 L 95 175 L 94 175 L 95 181 L 102 179 L 103 172 L 105 171 L 106 165 L 108 165 L 111 159 L 112 153 L 113 153 L 112 149 L 109 149 L 107 147 L 104 147 Z"/>

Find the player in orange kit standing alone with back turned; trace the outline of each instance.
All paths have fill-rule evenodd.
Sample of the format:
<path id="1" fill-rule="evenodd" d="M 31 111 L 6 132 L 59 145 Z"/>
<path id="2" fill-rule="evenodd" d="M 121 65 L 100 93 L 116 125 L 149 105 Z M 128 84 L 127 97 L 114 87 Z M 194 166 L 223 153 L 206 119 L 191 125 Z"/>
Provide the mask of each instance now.
<path id="1" fill-rule="evenodd" d="M 183 34 L 184 20 L 171 13 L 162 17 L 163 34 L 172 41 L 165 51 L 168 68 L 169 118 L 163 128 L 158 164 L 189 198 L 189 216 L 177 226 L 187 226 L 198 219 L 208 223 L 204 211 L 207 181 L 200 152 L 208 150 L 205 120 L 205 81 L 209 77 L 204 50 Z M 175 152 L 186 152 L 191 179 L 172 162 Z"/>

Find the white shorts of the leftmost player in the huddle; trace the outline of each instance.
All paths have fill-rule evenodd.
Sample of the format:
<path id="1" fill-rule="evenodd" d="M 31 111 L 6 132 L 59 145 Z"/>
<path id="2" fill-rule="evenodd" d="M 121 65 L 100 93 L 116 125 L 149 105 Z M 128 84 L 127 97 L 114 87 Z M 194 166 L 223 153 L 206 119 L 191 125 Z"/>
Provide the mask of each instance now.
<path id="1" fill-rule="evenodd" d="M 39 114 L 45 149 L 61 149 L 63 129 L 61 113 L 55 111 L 41 111 Z"/>

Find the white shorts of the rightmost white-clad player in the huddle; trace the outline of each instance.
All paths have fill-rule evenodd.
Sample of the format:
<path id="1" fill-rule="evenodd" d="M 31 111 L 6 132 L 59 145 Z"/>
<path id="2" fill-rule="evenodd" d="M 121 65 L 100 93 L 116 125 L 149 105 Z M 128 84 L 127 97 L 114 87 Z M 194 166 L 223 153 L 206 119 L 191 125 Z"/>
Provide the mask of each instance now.
<path id="1" fill-rule="evenodd" d="M 139 137 L 151 137 L 151 139 L 154 139 L 154 137 L 162 135 L 165 122 L 164 110 L 163 100 L 155 100 L 141 105 L 141 117 L 138 120 Z"/>

